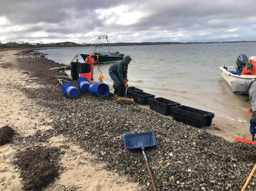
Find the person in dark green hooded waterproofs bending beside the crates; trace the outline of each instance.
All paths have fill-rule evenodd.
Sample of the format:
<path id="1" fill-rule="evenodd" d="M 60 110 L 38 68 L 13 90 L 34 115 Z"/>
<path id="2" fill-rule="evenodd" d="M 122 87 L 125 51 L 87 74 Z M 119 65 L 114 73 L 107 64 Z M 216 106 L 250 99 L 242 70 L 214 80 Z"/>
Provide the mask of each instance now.
<path id="1" fill-rule="evenodd" d="M 130 56 L 124 56 L 122 61 L 116 61 L 112 66 L 109 67 L 109 76 L 112 78 L 114 96 L 124 96 L 125 88 L 128 88 L 127 71 L 128 64 L 132 61 Z"/>

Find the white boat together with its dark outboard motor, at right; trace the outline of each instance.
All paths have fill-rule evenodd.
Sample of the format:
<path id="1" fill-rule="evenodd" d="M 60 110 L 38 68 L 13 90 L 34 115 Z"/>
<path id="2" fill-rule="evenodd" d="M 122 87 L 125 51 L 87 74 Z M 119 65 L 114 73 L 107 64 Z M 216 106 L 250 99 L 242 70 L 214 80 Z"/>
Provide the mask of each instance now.
<path id="1" fill-rule="evenodd" d="M 230 89 L 232 89 L 231 82 L 235 80 L 247 81 L 256 78 L 255 75 L 242 75 L 242 69 L 248 62 L 248 58 L 245 54 L 241 54 L 237 57 L 237 66 L 219 66 L 220 76 L 227 83 Z"/>

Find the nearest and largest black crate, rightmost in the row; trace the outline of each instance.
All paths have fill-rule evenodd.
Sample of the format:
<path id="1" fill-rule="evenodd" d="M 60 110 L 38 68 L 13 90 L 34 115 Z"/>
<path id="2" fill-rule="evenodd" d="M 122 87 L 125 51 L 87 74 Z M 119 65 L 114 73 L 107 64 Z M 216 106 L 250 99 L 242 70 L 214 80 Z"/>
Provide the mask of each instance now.
<path id="1" fill-rule="evenodd" d="M 212 118 L 215 114 L 197 108 L 190 108 L 185 105 L 179 105 L 172 108 L 173 119 L 186 123 L 188 125 L 202 128 L 212 124 Z"/>

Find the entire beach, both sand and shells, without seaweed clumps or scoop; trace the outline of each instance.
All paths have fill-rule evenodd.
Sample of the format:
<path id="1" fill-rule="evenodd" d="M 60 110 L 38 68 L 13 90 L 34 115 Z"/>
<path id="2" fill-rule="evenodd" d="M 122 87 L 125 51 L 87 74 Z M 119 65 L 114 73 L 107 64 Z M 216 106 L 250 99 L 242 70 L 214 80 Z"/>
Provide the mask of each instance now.
<path id="1" fill-rule="evenodd" d="M 124 145 L 125 134 L 149 131 L 158 143 L 145 151 L 157 190 L 241 190 L 255 165 L 249 143 L 230 142 L 113 93 L 69 98 L 54 78 L 64 66 L 35 51 L 0 53 L 0 128 L 16 132 L 0 146 L 0 190 L 23 189 L 14 156 L 42 146 L 59 148 L 52 153 L 59 157 L 59 175 L 43 190 L 152 190 L 142 152 Z M 253 175 L 247 190 L 255 190 L 255 183 Z"/>

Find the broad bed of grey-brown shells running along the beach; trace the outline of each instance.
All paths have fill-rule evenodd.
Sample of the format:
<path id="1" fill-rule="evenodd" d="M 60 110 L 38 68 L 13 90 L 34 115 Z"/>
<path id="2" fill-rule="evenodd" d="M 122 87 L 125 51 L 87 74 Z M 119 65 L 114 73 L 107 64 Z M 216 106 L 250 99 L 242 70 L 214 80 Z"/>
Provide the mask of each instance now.
<path id="1" fill-rule="evenodd" d="M 112 93 L 104 98 L 82 92 L 75 99 L 64 96 L 59 81 L 53 79 L 63 73 L 49 70 L 58 66 L 59 63 L 42 56 L 19 59 L 17 67 L 29 73 L 40 88 L 16 88 L 36 101 L 39 111 L 53 119 L 47 125 L 54 127 L 24 138 L 28 145 L 47 141 L 53 135 L 64 135 L 96 155 L 95 162 L 106 162 L 107 170 L 139 182 L 144 190 L 152 190 L 142 152 L 127 150 L 123 136 L 154 131 L 158 145 L 146 150 L 146 155 L 157 190 L 242 189 L 256 162 L 254 145 L 230 143 L 137 103 L 117 100 Z M 77 85 L 75 81 L 72 83 Z M 254 190 L 255 182 L 252 176 L 247 190 Z"/>

